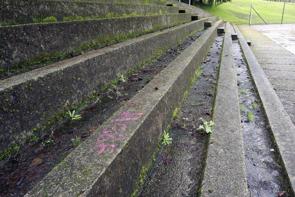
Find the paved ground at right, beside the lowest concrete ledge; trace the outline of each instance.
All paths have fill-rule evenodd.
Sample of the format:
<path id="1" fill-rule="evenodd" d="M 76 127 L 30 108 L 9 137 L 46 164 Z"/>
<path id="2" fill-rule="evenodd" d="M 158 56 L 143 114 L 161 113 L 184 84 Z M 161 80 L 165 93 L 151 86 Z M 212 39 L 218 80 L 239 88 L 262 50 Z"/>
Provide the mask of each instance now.
<path id="1" fill-rule="evenodd" d="M 294 32 L 295 24 L 286 25 L 293 28 L 290 32 Z M 255 57 L 295 124 L 295 55 L 292 54 L 295 53 L 295 39 L 294 35 L 287 36 L 285 27 L 285 25 L 238 26 L 244 38 L 250 39 Z"/>

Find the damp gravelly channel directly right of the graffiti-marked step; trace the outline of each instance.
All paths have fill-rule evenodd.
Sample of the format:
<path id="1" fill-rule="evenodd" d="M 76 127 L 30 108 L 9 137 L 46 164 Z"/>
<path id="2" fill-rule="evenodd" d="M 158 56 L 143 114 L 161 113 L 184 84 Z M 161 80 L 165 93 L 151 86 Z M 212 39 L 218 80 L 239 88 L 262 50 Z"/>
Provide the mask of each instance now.
<path id="1" fill-rule="evenodd" d="M 223 34 L 217 35 L 178 117 L 171 123 L 168 133 L 172 144 L 161 146 L 137 196 L 198 195 L 207 134 L 196 128 L 202 124 L 198 118 L 211 119 L 222 42 Z"/>

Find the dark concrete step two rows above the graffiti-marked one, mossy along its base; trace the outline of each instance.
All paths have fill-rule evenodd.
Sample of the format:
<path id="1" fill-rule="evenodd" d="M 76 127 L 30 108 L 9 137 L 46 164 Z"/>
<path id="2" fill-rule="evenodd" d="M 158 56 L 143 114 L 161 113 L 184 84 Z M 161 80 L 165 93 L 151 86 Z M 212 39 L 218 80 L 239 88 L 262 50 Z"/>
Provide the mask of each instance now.
<path id="1" fill-rule="evenodd" d="M 81 48 L 105 45 L 188 21 L 191 14 L 184 13 L 1 27 L 0 68 L 24 68 Z"/>

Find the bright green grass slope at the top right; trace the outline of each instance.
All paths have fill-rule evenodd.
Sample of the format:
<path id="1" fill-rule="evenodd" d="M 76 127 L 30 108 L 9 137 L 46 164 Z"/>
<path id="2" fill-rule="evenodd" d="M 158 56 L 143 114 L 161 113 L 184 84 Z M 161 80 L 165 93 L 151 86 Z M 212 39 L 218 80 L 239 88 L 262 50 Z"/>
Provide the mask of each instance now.
<path id="1" fill-rule="evenodd" d="M 219 6 L 201 8 L 223 18 L 224 21 L 228 20 L 236 25 L 241 25 L 249 24 L 251 2 L 252 0 L 232 0 Z M 281 23 L 283 6 L 283 2 L 253 0 L 253 8 L 267 24 Z M 295 23 L 295 3 L 285 4 L 283 23 Z M 254 10 L 252 10 L 251 24 L 265 24 Z"/>

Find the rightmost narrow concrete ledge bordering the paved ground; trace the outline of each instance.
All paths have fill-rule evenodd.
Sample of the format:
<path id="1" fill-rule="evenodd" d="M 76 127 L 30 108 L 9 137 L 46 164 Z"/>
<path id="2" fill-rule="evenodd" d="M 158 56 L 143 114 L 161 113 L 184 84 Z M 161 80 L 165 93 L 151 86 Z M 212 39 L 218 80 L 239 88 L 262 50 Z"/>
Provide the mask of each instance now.
<path id="1" fill-rule="evenodd" d="M 235 24 L 232 25 L 238 35 L 241 49 L 262 102 L 266 121 L 273 134 L 272 141 L 276 144 L 282 167 L 286 170 L 285 177 L 289 179 L 292 191 L 295 193 L 295 126 L 247 41 L 238 27 Z"/>

